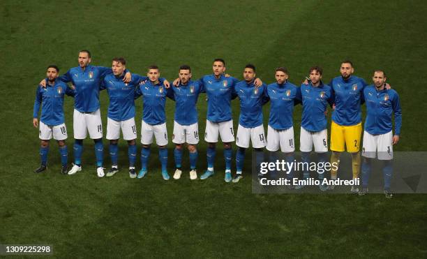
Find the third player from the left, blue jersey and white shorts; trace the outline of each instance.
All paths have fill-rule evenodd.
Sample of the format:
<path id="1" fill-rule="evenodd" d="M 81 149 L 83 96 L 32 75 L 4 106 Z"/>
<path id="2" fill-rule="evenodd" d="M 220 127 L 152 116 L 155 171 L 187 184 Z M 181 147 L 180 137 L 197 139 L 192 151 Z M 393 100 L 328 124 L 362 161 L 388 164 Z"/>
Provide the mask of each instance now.
<path id="1" fill-rule="evenodd" d="M 135 178 L 135 160 L 137 138 L 135 126 L 135 89 L 139 87 L 140 81 L 147 80 L 148 77 L 142 77 L 137 74 L 132 75 L 132 80 L 128 83 L 123 82 L 126 70 L 126 59 L 123 57 L 112 59 L 112 74 L 106 75 L 101 82 L 101 89 L 107 89 L 110 97 L 107 116 L 107 140 L 110 140 L 110 157 L 112 167 L 107 172 L 107 177 L 112 177 L 119 172 L 118 167 L 118 142 L 120 130 L 123 133 L 123 139 L 128 142 L 129 158 L 129 176 Z"/>

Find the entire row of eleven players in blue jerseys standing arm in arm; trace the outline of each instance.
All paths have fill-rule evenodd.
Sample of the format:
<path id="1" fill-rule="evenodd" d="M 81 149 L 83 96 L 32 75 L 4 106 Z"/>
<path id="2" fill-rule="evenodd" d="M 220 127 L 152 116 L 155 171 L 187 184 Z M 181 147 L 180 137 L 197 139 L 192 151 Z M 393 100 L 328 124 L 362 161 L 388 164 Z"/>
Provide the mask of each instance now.
<path id="1" fill-rule="evenodd" d="M 160 78 L 158 66 L 149 66 L 147 76 L 130 73 L 126 69 L 126 60 L 119 57 L 112 59 L 112 68 L 91 65 L 91 53 L 87 50 L 79 52 L 79 66 L 70 68 L 59 76 L 59 68 L 47 67 L 47 77 L 43 79 L 36 90 L 36 100 L 33 109 L 33 126 L 39 128 L 41 140 L 40 168 L 34 172 L 46 170 L 49 141 L 53 137 L 59 145 L 63 174 L 74 175 L 82 170 L 81 157 L 83 140 L 89 137 L 95 142 L 96 172 L 98 177 L 104 177 L 103 168 L 103 126 L 100 117 L 100 90 L 107 89 L 110 105 L 107 114 L 107 140 L 110 140 L 109 153 L 112 167 L 106 173 L 112 177 L 119 171 L 118 140 L 120 131 L 123 139 L 128 142 L 128 159 L 130 178 L 142 178 L 147 175 L 147 164 L 151 153 L 153 137 L 158 145 L 158 155 L 161 163 L 163 179 L 170 179 L 167 172 L 167 128 L 165 101 L 170 98 L 176 103 L 174 114 L 174 129 L 172 142 L 175 144 L 174 179 L 182 174 L 181 161 L 183 145 L 189 151 L 190 179 L 197 179 L 197 143 L 199 142 L 197 98 L 200 93 L 207 94 L 207 122 L 204 140 L 207 146 L 207 170 L 200 179 L 207 179 L 214 173 L 213 164 L 216 157 L 216 142 L 218 136 L 223 142 L 225 158 L 225 182 L 239 182 L 243 178 L 245 151 L 250 143 L 255 152 L 257 165 L 264 160 L 264 147 L 270 151 L 270 159 L 276 156 L 275 151 L 285 154 L 285 161 L 294 161 L 294 105 L 303 107 L 301 119 L 300 151 L 301 160 L 310 163 L 310 152 L 317 153 L 318 162 L 338 165 L 340 154 L 345 151 L 352 154 L 353 179 L 359 177 L 361 166 L 362 188 L 352 186 L 351 191 L 364 195 L 368 192 L 368 179 L 374 158 L 384 161 L 384 194 L 391 198 L 390 182 L 393 167 L 393 145 L 399 140 L 402 124 L 401 108 L 398 94 L 386 83 L 384 71 L 373 72 L 373 84 L 353 75 L 351 61 L 340 64 L 340 76 L 324 84 L 322 68 L 313 66 L 309 69 L 309 78 L 300 87 L 290 83 L 285 67 L 276 68 L 276 82 L 264 84 L 256 77 L 255 66 L 248 64 L 244 68 L 244 80 L 237 80 L 225 74 L 225 61 L 213 61 L 213 74 L 204 75 L 199 80 L 192 80 L 190 66 L 179 67 L 179 77 L 170 84 L 165 78 Z M 72 87 L 68 87 L 68 84 Z M 64 95 L 75 98 L 73 113 L 74 132 L 74 163 L 68 171 L 68 151 L 66 125 L 63 115 Z M 141 127 L 141 164 L 142 168 L 135 171 L 137 157 L 135 127 L 135 99 L 142 96 L 143 112 Z M 237 173 L 232 177 L 232 142 L 234 130 L 230 102 L 239 98 L 240 116 L 237 128 L 236 154 Z M 264 133 L 262 105 L 270 102 L 267 136 Z M 366 121 L 361 165 L 359 154 L 361 140 L 361 105 L 366 103 Z M 40 122 L 38 112 L 41 105 Z M 327 106 L 332 112 L 331 124 L 331 158 L 327 157 Z M 392 133 L 393 119 L 395 121 Z M 338 167 L 331 170 L 331 179 L 337 178 Z M 317 172 L 319 179 L 324 178 L 323 172 Z M 293 177 L 289 172 L 287 177 Z M 303 172 L 303 178 L 310 174 Z M 304 185 L 290 186 L 304 188 Z M 334 186 L 319 186 L 320 190 Z"/>

